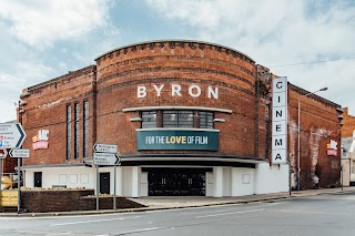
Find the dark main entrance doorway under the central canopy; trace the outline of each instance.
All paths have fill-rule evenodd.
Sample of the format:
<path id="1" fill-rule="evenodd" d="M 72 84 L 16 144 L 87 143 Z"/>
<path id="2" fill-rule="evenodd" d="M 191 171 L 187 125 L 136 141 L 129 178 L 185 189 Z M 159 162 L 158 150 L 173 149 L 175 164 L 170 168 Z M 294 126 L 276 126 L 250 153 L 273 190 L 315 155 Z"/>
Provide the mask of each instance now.
<path id="1" fill-rule="evenodd" d="M 205 173 L 212 168 L 143 168 L 149 196 L 205 196 Z"/>

